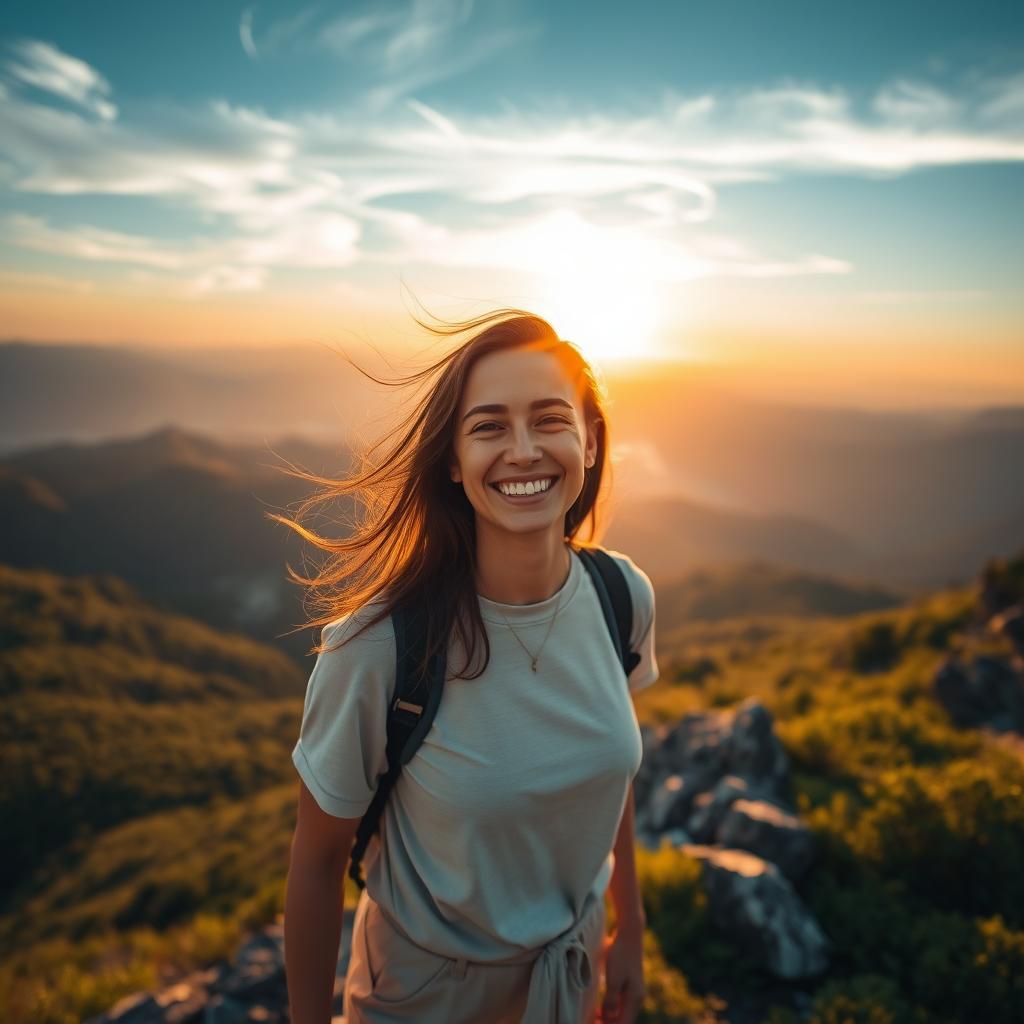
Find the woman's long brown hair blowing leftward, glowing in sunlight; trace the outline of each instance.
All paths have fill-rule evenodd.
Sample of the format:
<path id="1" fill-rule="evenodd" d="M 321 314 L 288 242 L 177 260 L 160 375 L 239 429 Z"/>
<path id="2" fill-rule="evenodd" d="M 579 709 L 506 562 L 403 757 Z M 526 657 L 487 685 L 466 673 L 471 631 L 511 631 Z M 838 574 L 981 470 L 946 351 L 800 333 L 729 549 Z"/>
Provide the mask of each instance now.
<path id="1" fill-rule="evenodd" d="M 423 602 L 427 614 L 425 658 L 446 649 L 455 630 L 466 652 L 466 664 L 456 676 L 475 679 L 490 657 L 476 597 L 476 523 L 462 485 L 450 475 L 456 420 L 469 372 L 489 352 L 512 348 L 550 352 L 565 369 L 583 399 L 589 429 L 597 432 L 597 459 L 585 470 L 583 489 L 565 513 L 564 536 L 575 541 L 587 525 L 590 544 L 598 536 L 599 495 L 602 503 L 604 500 L 601 484 L 606 473 L 610 475 L 604 389 L 580 350 L 559 338 L 547 321 L 524 309 L 497 309 L 455 323 L 427 324 L 413 318 L 440 336 L 482 330 L 440 359 L 407 376 L 378 380 L 356 367 L 379 384 L 400 387 L 426 383 L 426 392 L 393 433 L 360 454 L 361 464 L 352 475 L 332 479 L 294 466 L 285 469 L 319 489 L 299 506 L 294 519 L 267 515 L 327 554 L 313 575 L 301 575 L 288 566 L 289 578 L 306 588 L 304 610 L 309 614 L 309 607 L 314 609 L 299 629 L 326 626 L 372 599 L 379 600 L 377 614 L 346 637 L 339 644 L 343 646 L 396 606 L 429 589 L 430 599 Z M 390 443 L 383 453 L 375 456 L 387 441 Z M 301 520 L 324 503 L 350 497 L 355 499 L 357 511 L 348 537 L 325 538 L 302 525 Z M 478 643 L 483 647 L 482 664 L 467 675 Z M 312 647 L 313 652 L 327 649 L 323 637 Z"/>

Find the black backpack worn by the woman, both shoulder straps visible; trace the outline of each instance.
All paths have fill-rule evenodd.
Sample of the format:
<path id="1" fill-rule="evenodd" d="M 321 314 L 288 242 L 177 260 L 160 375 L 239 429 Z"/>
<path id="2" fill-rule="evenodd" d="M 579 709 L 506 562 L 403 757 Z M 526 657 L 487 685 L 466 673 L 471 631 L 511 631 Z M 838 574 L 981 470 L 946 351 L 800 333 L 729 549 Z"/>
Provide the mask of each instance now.
<path id="1" fill-rule="evenodd" d="M 611 636 L 611 642 L 618 652 L 626 675 L 636 668 L 640 654 L 630 649 L 630 633 L 633 626 L 633 599 L 629 583 L 618 563 L 603 548 L 573 548 L 584 567 L 590 573 L 598 601 L 604 615 L 604 623 Z M 362 815 L 352 844 L 349 878 L 359 889 L 366 889 L 359 865 L 370 840 L 380 826 L 391 787 L 398 779 L 402 766 L 416 754 L 423 737 L 427 734 L 441 700 L 444 687 L 443 654 L 431 658 L 428 671 L 421 675 L 417 666 L 422 662 L 421 652 L 426 644 L 426 616 L 422 605 L 407 604 L 391 612 L 394 627 L 397 673 L 394 698 L 387 719 L 387 771 L 377 781 L 377 792 Z M 426 686 L 425 699 L 413 699 L 420 686 Z"/>

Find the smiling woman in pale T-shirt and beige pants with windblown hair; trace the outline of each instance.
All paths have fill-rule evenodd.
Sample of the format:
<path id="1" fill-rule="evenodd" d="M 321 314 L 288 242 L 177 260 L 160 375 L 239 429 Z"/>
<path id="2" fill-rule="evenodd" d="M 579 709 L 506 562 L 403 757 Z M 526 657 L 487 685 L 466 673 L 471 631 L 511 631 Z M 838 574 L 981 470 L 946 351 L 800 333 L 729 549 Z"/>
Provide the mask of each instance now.
<path id="1" fill-rule="evenodd" d="M 422 325 L 428 327 L 428 325 Z M 345 984 L 349 1024 L 632 1022 L 643 909 L 629 691 L 657 678 L 653 591 L 623 555 L 634 605 L 622 664 L 573 542 L 596 530 L 608 441 L 600 391 L 545 321 L 502 309 L 414 380 L 428 384 L 383 458 L 308 477 L 312 504 L 356 495 L 352 536 L 311 589 L 324 614 L 293 761 L 301 776 L 285 914 L 294 1024 L 327 1024 L 343 872 L 387 768 L 390 609 L 429 595 L 447 674 L 367 851 Z M 579 543 L 579 542 L 577 542 Z M 613 850 L 612 850 L 613 847 Z M 609 887 L 616 930 L 604 937 Z M 597 1006 L 600 968 L 605 998 Z"/>

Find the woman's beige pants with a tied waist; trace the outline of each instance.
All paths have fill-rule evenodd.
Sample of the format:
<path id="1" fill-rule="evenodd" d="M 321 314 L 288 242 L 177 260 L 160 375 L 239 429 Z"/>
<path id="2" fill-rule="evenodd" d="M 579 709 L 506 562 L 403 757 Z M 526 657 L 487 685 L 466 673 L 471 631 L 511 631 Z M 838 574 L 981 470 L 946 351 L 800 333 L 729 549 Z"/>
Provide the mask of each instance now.
<path id="1" fill-rule="evenodd" d="M 498 963 L 417 945 L 364 890 L 345 979 L 347 1024 L 591 1024 L 597 1010 L 604 900 L 540 951 Z"/>

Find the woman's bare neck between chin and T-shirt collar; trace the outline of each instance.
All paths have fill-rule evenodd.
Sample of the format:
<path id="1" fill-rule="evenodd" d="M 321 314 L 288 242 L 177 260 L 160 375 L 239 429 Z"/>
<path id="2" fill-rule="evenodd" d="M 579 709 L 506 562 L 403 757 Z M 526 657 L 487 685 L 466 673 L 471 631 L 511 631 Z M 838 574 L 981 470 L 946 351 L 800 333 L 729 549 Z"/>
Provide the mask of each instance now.
<path id="1" fill-rule="evenodd" d="M 537 604 L 558 591 L 571 566 L 565 540 L 536 534 L 477 532 L 476 591 L 499 604 Z"/>

